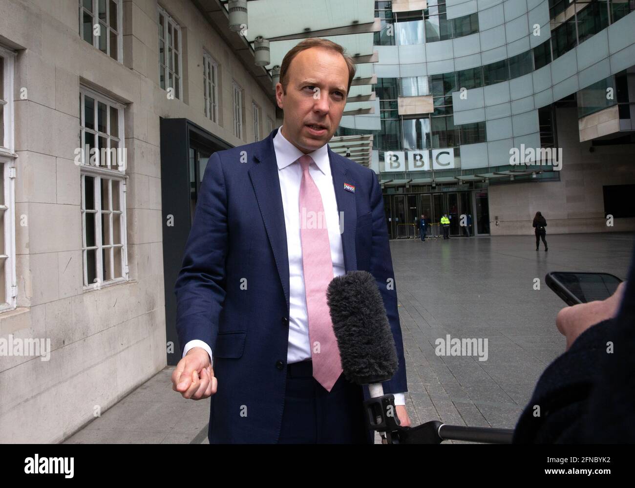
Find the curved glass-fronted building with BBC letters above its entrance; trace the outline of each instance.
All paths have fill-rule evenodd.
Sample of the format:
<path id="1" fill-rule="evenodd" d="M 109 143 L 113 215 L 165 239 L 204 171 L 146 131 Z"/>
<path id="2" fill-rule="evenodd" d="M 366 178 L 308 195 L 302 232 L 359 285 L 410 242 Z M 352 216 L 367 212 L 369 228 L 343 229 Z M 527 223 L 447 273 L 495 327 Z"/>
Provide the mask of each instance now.
<path id="1" fill-rule="evenodd" d="M 633 10 L 375 2 L 374 113 L 344 116 L 337 134 L 373 135 L 391 237 L 412 236 L 422 214 L 448 214 L 451 235 L 461 215 L 475 234 L 530 234 L 537 211 L 550 233 L 633 229 Z"/>

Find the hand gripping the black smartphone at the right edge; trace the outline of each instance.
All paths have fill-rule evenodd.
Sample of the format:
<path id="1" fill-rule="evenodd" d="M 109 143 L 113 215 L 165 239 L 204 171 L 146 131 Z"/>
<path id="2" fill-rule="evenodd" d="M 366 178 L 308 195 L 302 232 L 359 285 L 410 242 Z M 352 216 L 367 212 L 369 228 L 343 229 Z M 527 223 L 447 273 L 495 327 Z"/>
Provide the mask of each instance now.
<path id="1" fill-rule="evenodd" d="M 617 315 L 625 288 L 626 283 L 620 283 L 615 293 L 606 300 L 580 303 L 565 307 L 558 312 L 556 327 L 560 334 L 566 337 L 566 350 L 591 325 Z"/>

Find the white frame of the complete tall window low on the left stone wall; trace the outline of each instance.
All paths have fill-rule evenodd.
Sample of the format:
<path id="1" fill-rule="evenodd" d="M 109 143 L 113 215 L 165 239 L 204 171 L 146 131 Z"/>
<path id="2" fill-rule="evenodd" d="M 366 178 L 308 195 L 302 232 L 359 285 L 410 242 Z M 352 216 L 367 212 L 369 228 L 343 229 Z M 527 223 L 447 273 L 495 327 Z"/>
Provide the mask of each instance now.
<path id="1" fill-rule="evenodd" d="M 117 112 L 117 132 L 118 132 L 118 137 L 117 139 L 119 139 L 119 147 L 121 148 L 121 151 L 126 151 L 126 147 L 125 147 L 125 126 L 124 126 L 124 110 L 125 110 L 125 105 L 116 102 L 115 100 L 112 100 L 112 98 L 109 98 L 105 95 L 103 95 L 102 93 L 98 93 L 95 92 L 95 90 L 91 90 L 91 88 L 88 88 L 84 85 L 81 85 L 79 88 L 79 101 L 80 101 L 80 119 L 79 119 L 79 126 L 80 126 L 80 133 L 79 133 L 79 142 L 80 144 L 82 144 L 81 149 L 84 148 L 84 141 L 85 141 L 85 131 L 88 129 L 91 132 L 93 132 L 92 129 L 90 128 L 86 128 L 85 126 L 85 111 L 84 111 L 84 97 L 88 95 L 91 98 L 93 98 L 95 100 L 95 106 L 97 106 L 98 102 L 102 102 L 104 104 L 107 105 L 107 135 L 108 135 L 108 148 L 110 148 L 110 138 L 112 137 L 110 135 L 110 120 L 111 120 L 111 116 L 110 116 L 110 107 L 114 107 L 118 110 Z M 96 133 L 100 133 L 97 130 L 97 110 L 95 110 L 95 132 Z M 97 136 L 98 137 L 98 136 Z M 97 144 L 97 141 L 96 141 Z M 97 147 L 97 145 L 95 146 Z M 126 283 L 127 281 L 130 280 L 130 273 L 129 273 L 129 268 L 128 268 L 128 222 L 127 222 L 127 212 L 126 212 L 126 191 L 127 191 L 127 182 L 128 182 L 128 175 L 126 175 L 126 166 L 123 165 L 123 168 L 119 168 L 119 165 L 116 166 L 104 166 L 102 165 L 101 161 L 100 161 L 100 165 L 90 165 L 90 162 L 87 164 L 85 162 L 85 156 L 86 154 L 83 154 L 83 151 L 81 152 L 81 160 L 79 162 L 79 167 L 80 167 L 80 191 L 81 191 L 81 198 L 80 198 L 80 219 L 81 219 L 81 240 L 82 240 L 82 284 L 83 284 L 83 290 L 84 291 L 90 291 L 90 290 L 99 290 L 101 288 L 104 287 L 108 287 L 111 285 L 117 285 L 119 283 Z M 90 157 L 90 155 L 89 155 Z M 112 168 L 117 168 L 117 169 L 112 169 Z M 93 209 L 89 209 L 88 211 L 86 210 L 86 177 L 92 177 L 94 179 L 93 181 Z M 98 194 L 101 196 L 101 189 L 102 189 L 102 179 L 107 179 L 107 180 L 117 180 L 119 181 L 119 194 L 118 194 L 118 198 L 119 198 L 119 210 L 114 210 L 114 207 L 112 205 L 112 202 L 114 201 L 114 195 L 112 194 L 112 184 L 109 183 L 108 187 L 109 187 L 109 209 L 104 210 L 102 208 L 102 198 L 97 198 Z M 97 189 L 99 190 L 99 193 L 97 192 Z M 96 271 L 95 271 L 95 275 L 97 276 L 95 278 L 95 281 L 93 281 L 93 283 L 88 283 L 88 245 L 86 245 L 86 213 L 92 213 L 97 215 L 98 217 L 95 218 L 95 245 L 94 246 L 90 246 L 91 249 L 95 249 L 95 266 L 96 266 Z M 102 240 L 102 219 L 101 216 L 102 214 L 108 214 L 109 215 L 109 229 L 110 229 L 110 239 L 109 242 L 110 244 L 104 244 L 103 240 Z M 119 235 L 121 238 L 121 245 L 116 245 L 113 242 L 113 238 L 114 238 L 114 227 L 112 225 L 114 217 L 112 217 L 112 215 L 114 214 L 119 214 L 121 215 L 120 217 L 120 222 L 119 222 Z M 114 248 L 115 247 L 121 247 L 121 274 L 123 276 L 118 277 L 118 278 L 112 278 L 110 280 L 105 281 L 104 280 L 104 271 L 103 271 L 103 267 L 104 267 L 104 262 L 103 262 L 103 257 L 102 257 L 102 252 L 104 250 L 104 247 L 106 248 L 112 248 L 113 249 L 113 255 L 114 255 Z M 114 260 L 110 261 L 110 270 L 111 273 L 114 272 Z"/>

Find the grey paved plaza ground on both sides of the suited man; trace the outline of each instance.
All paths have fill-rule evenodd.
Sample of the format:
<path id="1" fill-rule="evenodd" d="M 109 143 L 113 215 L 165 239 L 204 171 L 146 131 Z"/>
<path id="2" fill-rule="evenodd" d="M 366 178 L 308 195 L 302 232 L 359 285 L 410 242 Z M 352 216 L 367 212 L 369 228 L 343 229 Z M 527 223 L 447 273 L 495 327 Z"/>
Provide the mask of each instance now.
<path id="1" fill-rule="evenodd" d="M 438 419 L 514 428 L 538 377 L 565 348 L 555 325 L 564 302 L 545 285 L 545 274 L 601 271 L 625 279 L 634 236 L 560 234 L 547 235 L 547 242 L 549 252 L 542 244 L 535 251 L 533 235 L 391 241 L 413 425 Z M 487 339 L 487 360 L 436 355 L 437 339 L 448 334 Z M 177 395 L 172 370 L 166 367 L 67 442 L 207 442 L 209 399 Z"/>

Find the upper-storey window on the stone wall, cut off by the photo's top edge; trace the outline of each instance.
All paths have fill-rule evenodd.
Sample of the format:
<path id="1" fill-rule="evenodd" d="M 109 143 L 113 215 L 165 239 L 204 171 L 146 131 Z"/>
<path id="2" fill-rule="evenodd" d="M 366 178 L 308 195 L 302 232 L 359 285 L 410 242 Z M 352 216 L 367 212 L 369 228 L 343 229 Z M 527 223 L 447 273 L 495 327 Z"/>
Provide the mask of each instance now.
<path id="1" fill-rule="evenodd" d="M 79 36 L 121 62 L 121 0 L 79 0 Z"/>

